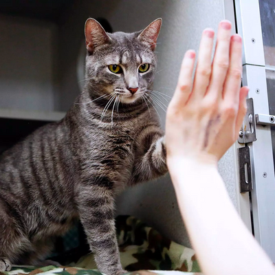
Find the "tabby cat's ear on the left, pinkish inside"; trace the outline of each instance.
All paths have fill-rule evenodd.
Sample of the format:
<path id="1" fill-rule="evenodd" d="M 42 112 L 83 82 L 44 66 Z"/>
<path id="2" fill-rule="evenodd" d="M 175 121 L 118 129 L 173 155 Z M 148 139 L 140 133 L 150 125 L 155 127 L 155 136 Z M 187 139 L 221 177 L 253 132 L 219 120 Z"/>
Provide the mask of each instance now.
<path id="1" fill-rule="evenodd" d="M 102 25 L 92 18 L 87 19 L 85 23 L 85 38 L 90 53 L 93 53 L 96 47 L 111 42 L 111 37 L 104 31 Z"/>

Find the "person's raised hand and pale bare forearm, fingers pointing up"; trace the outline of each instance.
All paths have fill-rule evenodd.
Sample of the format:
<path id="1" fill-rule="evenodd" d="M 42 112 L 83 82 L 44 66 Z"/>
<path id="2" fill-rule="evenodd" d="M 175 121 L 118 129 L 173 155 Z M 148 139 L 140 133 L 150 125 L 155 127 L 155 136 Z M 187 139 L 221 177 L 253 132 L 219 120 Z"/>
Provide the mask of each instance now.
<path id="1" fill-rule="evenodd" d="M 195 78 L 195 52 L 181 65 L 166 115 L 168 169 L 181 215 L 204 275 L 272 275 L 272 262 L 239 218 L 217 162 L 234 144 L 246 112 L 241 83 L 241 37 L 221 21 L 203 32 Z"/>

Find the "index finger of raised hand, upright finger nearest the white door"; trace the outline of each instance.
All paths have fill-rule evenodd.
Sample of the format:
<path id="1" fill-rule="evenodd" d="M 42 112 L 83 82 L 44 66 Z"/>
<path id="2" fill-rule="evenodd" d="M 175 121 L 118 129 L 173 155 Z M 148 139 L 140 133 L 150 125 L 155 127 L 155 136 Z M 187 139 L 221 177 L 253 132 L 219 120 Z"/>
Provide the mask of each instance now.
<path id="1" fill-rule="evenodd" d="M 233 102 L 236 107 L 239 106 L 239 90 L 241 87 L 241 36 L 232 35 L 230 43 L 230 65 L 223 88 L 223 98 L 227 102 Z"/>

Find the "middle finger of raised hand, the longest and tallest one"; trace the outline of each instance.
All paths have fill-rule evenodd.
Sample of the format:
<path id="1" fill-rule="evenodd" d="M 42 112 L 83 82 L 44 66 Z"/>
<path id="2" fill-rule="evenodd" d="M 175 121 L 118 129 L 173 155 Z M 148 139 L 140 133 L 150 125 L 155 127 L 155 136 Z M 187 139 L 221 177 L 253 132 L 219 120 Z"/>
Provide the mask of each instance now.
<path id="1" fill-rule="evenodd" d="M 221 98 L 223 83 L 229 66 L 230 37 L 230 21 L 221 21 L 221 23 L 219 23 L 219 30 L 217 34 L 217 45 L 212 64 L 210 85 L 207 92 L 209 96 Z"/>

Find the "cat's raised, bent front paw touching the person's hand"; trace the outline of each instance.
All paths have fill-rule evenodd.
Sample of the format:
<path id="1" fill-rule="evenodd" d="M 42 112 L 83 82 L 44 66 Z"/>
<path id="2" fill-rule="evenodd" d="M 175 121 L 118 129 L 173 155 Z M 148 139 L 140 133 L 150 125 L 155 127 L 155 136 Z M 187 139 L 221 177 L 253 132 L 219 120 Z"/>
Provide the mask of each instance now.
<path id="1" fill-rule="evenodd" d="M 160 131 L 149 132 L 139 142 L 132 182 L 155 179 L 167 173 L 165 136 Z M 143 152 L 143 153 L 142 153 Z"/>

